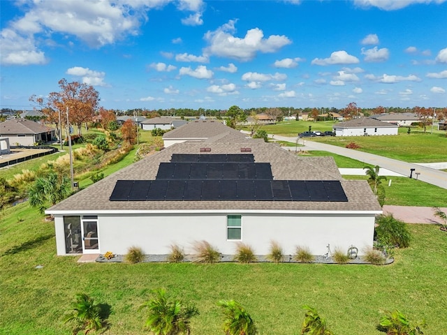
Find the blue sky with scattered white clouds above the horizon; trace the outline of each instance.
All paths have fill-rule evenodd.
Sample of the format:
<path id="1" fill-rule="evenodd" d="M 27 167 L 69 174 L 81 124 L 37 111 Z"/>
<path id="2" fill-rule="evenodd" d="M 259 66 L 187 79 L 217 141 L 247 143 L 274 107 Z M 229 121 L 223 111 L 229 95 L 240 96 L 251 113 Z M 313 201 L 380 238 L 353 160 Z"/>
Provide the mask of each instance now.
<path id="1" fill-rule="evenodd" d="M 1 107 L 57 82 L 113 109 L 446 107 L 446 0 L 17 0 Z"/>

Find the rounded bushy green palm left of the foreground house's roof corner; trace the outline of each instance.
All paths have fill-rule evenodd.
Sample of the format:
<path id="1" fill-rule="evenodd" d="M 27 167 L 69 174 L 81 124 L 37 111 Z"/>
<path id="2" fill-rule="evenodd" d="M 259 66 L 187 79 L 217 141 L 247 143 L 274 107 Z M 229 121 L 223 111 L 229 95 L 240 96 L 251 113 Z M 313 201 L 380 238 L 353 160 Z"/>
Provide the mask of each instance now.
<path id="1" fill-rule="evenodd" d="M 68 196 L 69 184 L 67 177 L 59 178 L 54 172 L 50 172 L 46 177 L 38 177 L 29 189 L 29 204 L 31 207 L 38 207 L 39 212 L 43 213 L 45 209 Z"/>

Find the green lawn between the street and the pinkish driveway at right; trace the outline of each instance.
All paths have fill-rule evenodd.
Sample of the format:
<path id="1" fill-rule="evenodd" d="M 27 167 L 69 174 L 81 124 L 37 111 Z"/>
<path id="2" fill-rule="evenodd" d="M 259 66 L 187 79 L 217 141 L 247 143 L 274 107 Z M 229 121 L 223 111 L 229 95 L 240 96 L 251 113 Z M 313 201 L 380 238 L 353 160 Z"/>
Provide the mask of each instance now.
<path id="1" fill-rule="evenodd" d="M 367 176 L 343 176 L 344 179 L 367 179 Z M 388 186 L 391 179 L 391 186 Z M 445 207 L 447 191 L 445 188 L 427 184 L 408 177 L 387 177 L 382 181 L 385 187 L 385 204 L 395 206 Z"/>

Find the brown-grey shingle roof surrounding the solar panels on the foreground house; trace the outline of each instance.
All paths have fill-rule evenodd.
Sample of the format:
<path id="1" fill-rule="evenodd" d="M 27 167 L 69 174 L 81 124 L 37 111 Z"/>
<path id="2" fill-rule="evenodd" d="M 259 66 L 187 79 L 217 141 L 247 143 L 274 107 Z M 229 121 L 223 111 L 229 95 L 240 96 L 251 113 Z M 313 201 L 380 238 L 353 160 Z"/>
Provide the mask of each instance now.
<path id="1" fill-rule="evenodd" d="M 172 154 L 199 154 L 203 143 L 174 144 L 142 159 L 109 177 L 76 193 L 48 212 L 66 211 L 172 211 L 172 210 L 292 210 L 292 211 L 381 211 L 381 207 L 366 181 L 344 180 L 332 157 L 298 157 L 279 145 L 265 142 L 207 143 L 210 152 L 203 154 L 240 154 L 249 147 L 256 163 L 270 163 L 274 179 L 339 180 L 348 202 L 289 202 L 289 201 L 113 201 L 109 200 L 117 180 L 155 179 L 161 162 L 169 162 Z"/>

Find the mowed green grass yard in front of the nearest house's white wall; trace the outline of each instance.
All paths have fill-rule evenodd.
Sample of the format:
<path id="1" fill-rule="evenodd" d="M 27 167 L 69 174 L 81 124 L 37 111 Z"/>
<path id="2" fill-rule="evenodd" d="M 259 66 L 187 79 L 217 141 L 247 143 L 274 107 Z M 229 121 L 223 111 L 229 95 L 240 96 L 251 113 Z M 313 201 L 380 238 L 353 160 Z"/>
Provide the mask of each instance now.
<path id="1" fill-rule="evenodd" d="M 150 290 L 196 304 L 192 334 L 223 334 L 219 299 L 235 299 L 257 322 L 260 334 L 300 334 L 309 304 L 339 335 L 383 334 L 383 311 L 399 309 L 425 318 L 424 334 L 447 334 L 447 234 L 436 225 L 408 225 L 411 246 L 392 265 L 219 263 L 80 264 L 55 255 L 53 223 L 28 204 L 6 209 L 0 224 L 0 334 L 71 334 L 61 321 L 77 292 L 110 304 L 104 334 L 147 334 L 138 307 Z M 41 269 L 36 269 L 42 265 Z"/>

